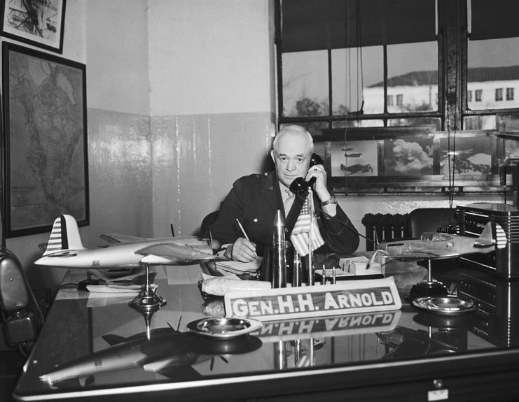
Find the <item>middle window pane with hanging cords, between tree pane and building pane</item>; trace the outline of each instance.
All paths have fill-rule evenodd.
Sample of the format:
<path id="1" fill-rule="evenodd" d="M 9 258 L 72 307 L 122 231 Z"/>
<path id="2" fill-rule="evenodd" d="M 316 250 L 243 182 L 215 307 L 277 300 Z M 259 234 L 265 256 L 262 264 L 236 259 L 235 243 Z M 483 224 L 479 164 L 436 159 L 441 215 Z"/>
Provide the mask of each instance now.
<path id="1" fill-rule="evenodd" d="M 362 107 L 364 87 L 364 113 L 384 111 L 384 87 L 371 85 L 384 80 L 382 46 L 332 50 L 331 82 L 332 110 L 334 115 L 356 112 Z"/>

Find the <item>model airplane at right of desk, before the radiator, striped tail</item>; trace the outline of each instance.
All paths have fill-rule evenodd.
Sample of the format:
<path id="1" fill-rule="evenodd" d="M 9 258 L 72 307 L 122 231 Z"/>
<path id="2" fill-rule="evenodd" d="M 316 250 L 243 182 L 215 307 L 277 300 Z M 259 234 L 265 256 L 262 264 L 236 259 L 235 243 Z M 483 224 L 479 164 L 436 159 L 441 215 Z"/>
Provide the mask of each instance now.
<path id="1" fill-rule="evenodd" d="M 488 222 L 478 238 L 460 236 L 458 234 L 425 233 L 419 239 L 396 240 L 380 243 L 371 260 L 379 254 L 382 258 L 399 260 L 420 260 L 451 258 L 462 254 L 487 253 L 496 248 L 506 247 L 507 239 L 504 229 Z"/>

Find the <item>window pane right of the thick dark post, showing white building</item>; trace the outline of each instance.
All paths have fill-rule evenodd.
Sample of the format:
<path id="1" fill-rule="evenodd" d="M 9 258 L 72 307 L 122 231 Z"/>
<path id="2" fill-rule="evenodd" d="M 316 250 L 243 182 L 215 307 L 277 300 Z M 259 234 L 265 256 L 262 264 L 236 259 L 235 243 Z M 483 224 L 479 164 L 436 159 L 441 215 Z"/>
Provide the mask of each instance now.
<path id="1" fill-rule="evenodd" d="M 469 109 L 519 108 L 515 99 L 507 96 L 503 101 L 502 90 L 506 87 L 506 94 L 510 95 L 515 85 L 519 87 L 518 47 L 519 38 L 469 41 L 466 86 L 467 91 L 475 93 L 474 99 L 467 99 Z"/>

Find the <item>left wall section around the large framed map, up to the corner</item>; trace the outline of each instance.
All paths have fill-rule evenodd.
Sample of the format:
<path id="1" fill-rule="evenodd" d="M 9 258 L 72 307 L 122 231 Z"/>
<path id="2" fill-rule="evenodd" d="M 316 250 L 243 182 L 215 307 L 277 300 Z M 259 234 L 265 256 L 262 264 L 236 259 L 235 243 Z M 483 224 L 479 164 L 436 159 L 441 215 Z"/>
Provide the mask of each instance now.
<path id="1" fill-rule="evenodd" d="M 99 234 L 151 236 L 148 19 L 146 0 L 69 0 L 60 55 L 86 64 L 90 226 L 85 247 Z M 38 49 L 40 50 L 40 49 Z M 51 53 L 51 52 L 49 52 Z M 36 269 L 48 234 L 6 239 L 35 288 L 52 287 L 64 270 Z"/>

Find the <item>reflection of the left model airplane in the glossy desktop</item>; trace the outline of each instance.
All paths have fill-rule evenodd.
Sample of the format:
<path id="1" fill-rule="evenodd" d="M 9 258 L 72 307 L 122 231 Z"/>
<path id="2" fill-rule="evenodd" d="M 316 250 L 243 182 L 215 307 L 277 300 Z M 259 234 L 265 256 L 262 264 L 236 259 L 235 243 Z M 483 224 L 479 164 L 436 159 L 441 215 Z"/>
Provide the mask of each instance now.
<path id="1" fill-rule="evenodd" d="M 256 337 L 247 336 L 229 343 L 202 338 L 193 332 L 179 332 L 171 326 L 151 330 L 149 338 L 147 332 L 129 338 L 110 334 L 102 338 L 110 347 L 61 364 L 41 375 L 40 380 L 56 387 L 67 380 L 78 380 L 85 385 L 91 375 L 139 367 L 174 380 L 192 380 L 200 375 L 191 367 L 193 364 L 210 360 L 212 370 L 216 356 L 227 363 L 222 354 L 251 352 L 261 346 Z"/>

